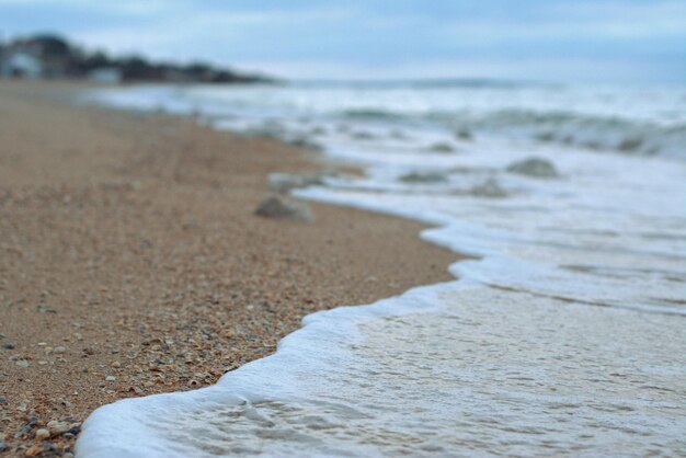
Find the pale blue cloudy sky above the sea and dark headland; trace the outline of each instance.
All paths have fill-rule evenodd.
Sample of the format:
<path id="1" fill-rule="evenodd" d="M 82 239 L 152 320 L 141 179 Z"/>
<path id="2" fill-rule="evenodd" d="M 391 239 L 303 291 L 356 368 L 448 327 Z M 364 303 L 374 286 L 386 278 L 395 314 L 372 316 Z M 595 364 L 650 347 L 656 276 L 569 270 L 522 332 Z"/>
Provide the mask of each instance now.
<path id="1" fill-rule="evenodd" d="M 0 0 L 0 38 L 293 79 L 686 83 L 686 0 Z"/>

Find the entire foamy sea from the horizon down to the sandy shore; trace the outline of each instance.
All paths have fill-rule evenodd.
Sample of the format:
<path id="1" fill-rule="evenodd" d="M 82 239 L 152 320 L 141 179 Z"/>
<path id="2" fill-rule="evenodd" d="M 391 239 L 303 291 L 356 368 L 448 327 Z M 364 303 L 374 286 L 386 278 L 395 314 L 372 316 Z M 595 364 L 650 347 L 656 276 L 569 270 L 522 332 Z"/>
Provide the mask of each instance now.
<path id="1" fill-rule="evenodd" d="M 686 456 L 686 89 L 146 85 L 87 99 L 363 165 L 293 193 L 424 221 L 419 237 L 469 257 L 454 282 L 307 317 L 214 387 L 96 410 L 79 456 Z"/>

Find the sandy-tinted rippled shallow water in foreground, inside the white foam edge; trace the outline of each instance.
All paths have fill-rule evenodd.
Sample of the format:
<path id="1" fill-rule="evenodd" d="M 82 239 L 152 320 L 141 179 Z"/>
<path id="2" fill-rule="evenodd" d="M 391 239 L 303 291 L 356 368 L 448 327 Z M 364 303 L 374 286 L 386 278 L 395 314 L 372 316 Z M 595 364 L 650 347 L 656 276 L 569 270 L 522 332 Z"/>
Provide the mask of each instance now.
<path id="1" fill-rule="evenodd" d="M 165 424 L 165 436 L 208 454 L 274 456 L 686 449 L 678 321 L 484 288 L 441 296 L 439 312 L 365 322 L 343 364 L 302 381 L 298 398 L 203 411 Z"/>

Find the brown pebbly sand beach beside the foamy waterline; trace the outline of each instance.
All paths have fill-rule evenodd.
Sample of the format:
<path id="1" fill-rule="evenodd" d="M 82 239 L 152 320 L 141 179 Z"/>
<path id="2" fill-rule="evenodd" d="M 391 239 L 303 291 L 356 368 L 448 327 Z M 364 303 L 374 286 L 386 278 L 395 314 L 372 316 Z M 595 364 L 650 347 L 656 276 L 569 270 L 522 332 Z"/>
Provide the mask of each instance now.
<path id="1" fill-rule="evenodd" d="M 69 456 L 102 404 L 214 383 L 307 313 L 450 279 L 455 255 L 419 224 L 316 204 L 315 222 L 253 214 L 268 173 L 335 167 L 317 153 L 76 107 L 80 89 L 0 82 L 5 455 Z"/>

